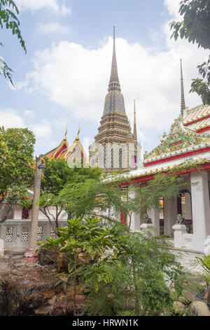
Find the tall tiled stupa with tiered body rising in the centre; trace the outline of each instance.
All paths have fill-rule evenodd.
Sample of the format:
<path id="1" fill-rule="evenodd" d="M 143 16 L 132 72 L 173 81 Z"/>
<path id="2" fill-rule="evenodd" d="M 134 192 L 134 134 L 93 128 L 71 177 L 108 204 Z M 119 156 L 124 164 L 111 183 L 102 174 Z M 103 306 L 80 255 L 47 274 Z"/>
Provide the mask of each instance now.
<path id="1" fill-rule="evenodd" d="M 106 172 L 130 171 L 140 162 L 141 145 L 137 143 L 136 110 L 134 103 L 134 133 L 125 112 L 125 102 L 121 93 L 116 60 L 116 37 L 113 27 L 113 57 L 109 93 L 104 103 L 104 113 L 90 146 L 90 165 L 99 166 Z"/>

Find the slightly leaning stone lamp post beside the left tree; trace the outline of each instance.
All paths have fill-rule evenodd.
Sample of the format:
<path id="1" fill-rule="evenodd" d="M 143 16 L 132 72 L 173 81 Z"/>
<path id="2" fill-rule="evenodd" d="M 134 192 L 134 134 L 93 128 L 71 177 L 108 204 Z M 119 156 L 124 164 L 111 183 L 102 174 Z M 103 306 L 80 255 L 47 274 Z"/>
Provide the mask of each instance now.
<path id="1" fill-rule="evenodd" d="M 37 253 L 34 253 L 37 245 L 37 228 L 38 228 L 38 211 L 39 211 L 39 197 L 40 197 L 40 188 L 41 188 L 41 173 L 45 169 L 43 161 L 41 161 L 43 154 L 36 157 L 36 172 L 34 179 L 34 198 L 32 206 L 32 216 L 31 216 L 31 230 L 29 237 L 29 247 L 25 253 L 25 260 L 28 263 L 36 263 Z"/>

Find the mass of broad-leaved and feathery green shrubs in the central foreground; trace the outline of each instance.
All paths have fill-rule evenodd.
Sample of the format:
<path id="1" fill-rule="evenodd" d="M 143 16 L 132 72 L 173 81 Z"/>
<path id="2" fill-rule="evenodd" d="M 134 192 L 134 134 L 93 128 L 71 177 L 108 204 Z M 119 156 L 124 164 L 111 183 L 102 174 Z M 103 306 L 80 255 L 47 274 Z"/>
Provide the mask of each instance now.
<path id="1" fill-rule="evenodd" d="M 57 248 L 69 257 L 66 277 L 85 288 L 86 315 L 157 315 L 172 308 L 169 285 L 180 294 L 181 265 L 169 244 L 150 232 L 128 232 L 120 223 L 102 227 L 99 218 L 69 220 L 58 239 L 40 248 Z"/>

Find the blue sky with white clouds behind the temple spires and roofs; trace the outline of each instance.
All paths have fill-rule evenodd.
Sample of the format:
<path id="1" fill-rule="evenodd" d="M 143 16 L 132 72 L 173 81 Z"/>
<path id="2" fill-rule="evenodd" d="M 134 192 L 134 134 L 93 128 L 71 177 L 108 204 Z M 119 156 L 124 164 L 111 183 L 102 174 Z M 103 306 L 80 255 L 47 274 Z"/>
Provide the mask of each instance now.
<path id="1" fill-rule="evenodd" d="M 186 106 L 202 101 L 190 93 L 197 65 L 208 52 L 170 39 L 169 22 L 180 20 L 180 0 L 15 0 L 27 53 L 1 30 L 0 56 L 13 69 L 15 88 L 0 76 L 0 126 L 28 127 L 34 154 L 45 154 L 64 138 L 76 138 L 88 153 L 104 110 L 111 72 L 113 25 L 125 110 L 138 140 L 151 151 L 181 111 L 180 59 Z"/>

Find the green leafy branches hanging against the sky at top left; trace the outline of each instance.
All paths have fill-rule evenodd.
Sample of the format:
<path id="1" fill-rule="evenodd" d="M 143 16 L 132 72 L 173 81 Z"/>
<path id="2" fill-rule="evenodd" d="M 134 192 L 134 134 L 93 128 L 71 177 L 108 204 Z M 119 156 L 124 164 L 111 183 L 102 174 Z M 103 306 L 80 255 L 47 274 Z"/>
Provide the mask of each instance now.
<path id="1" fill-rule="evenodd" d="M 13 0 L 0 0 L 0 27 L 6 27 L 6 29 L 10 29 L 13 34 L 16 34 L 18 39 L 20 40 L 20 44 L 26 53 L 25 41 L 22 39 L 22 35 L 20 32 L 20 21 L 18 20 L 17 15 L 19 14 L 18 7 Z M 3 44 L 0 41 L 0 46 Z M 6 62 L 0 57 L 0 74 L 3 77 L 8 78 L 10 83 L 13 85 L 12 81 L 12 72 L 13 70 L 8 67 Z"/>

